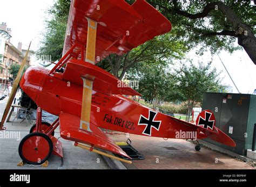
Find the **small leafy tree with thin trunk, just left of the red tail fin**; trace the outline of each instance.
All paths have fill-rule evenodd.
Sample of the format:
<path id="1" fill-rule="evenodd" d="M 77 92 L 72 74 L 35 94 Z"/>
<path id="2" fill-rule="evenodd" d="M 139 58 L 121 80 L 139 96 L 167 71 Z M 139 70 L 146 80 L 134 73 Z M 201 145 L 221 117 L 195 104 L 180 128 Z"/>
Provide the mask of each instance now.
<path id="1" fill-rule="evenodd" d="M 173 89 L 177 91 L 179 100 L 187 103 L 187 119 L 193 107 L 203 102 L 204 92 L 218 92 L 225 88 L 221 85 L 220 73 L 217 73 L 216 68 L 211 68 L 211 63 L 198 63 L 198 66 L 183 64 L 175 71 L 177 84 Z"/>

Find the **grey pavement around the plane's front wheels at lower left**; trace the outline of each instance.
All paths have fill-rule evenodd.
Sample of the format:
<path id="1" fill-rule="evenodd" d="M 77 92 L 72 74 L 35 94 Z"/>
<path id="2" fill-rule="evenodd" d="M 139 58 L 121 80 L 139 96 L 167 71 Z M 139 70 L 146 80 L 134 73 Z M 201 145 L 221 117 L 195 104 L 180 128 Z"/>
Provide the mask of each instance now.
<path id="1" fill-rule="evenodd" d="M 0 116 L 2 118 L 5 102 L 8 98 L 0 101 Z M 11 117 L 11 121 L 13 116 Z M 19 123 L 21 120 L 15 120 L 14 125 L 5 123 L 5 127 L 10 132 L 17 132 L 15 138 L 1 138 L 0 139 L 0 169 L 109 169 L 102 156 L 90 153 L 87 150 L 74 147 L 73 142 L 59 138 L 63 144 L 64 160 L 52 155 L 49 159 L 47 168 L 35 167 L 32 165 L 25 165 L 24 167 L 17 167 L 17 163 L 21 161 L 18 155 L 18 145 L 20 140 L 29 133 L 31 124 L 26 126 L 26 122 Z M 3 132 L 3 131 L 2 131 Z M 0 132 L 1 133 L 1 132 Z M 19 137 L 20 135 L 20 137 Z M 55 130 L 55 136 L 58 138 L 59 129 Z"/>

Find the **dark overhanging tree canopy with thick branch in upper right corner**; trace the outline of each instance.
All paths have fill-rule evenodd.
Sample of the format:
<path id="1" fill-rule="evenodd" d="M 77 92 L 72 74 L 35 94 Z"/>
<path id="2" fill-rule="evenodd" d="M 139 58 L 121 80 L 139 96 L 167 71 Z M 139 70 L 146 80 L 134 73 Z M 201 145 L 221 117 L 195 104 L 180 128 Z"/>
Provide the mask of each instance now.
<path id="1" fill-rule="evenodd" d="M 190 49 L 201 46 L 198 52 L 210 48 L 212 53 L 220 50 L 233 52 L 244 47 L 256 64 L 256 38 L 254 36 L 255 8 L 250 1 L 183 1 L 151 0 L 179 30 L 177 39 L 186 41 Z"/>

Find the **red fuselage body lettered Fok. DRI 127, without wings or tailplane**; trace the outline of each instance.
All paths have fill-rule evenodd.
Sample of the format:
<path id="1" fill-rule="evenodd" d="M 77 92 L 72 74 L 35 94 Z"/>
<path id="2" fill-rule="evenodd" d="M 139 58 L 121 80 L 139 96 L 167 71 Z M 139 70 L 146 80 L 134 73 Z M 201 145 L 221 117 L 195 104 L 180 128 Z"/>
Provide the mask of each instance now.
<path id="1" fill-rule="evenodd" d="M 20 86 L 43 110 L 57 116 L 69 113 L 80 117 L 83 87 L 62 80 L 62 74 L 52 76 L 45 68 L 29 67 Z M 144 134 L 146 124 L 138 123 L 140 117 L 149 119 L 150 110 L 125 96 L 93 91 L 90 120 L 100 128 L 156 137 L 176 138 L 176 131 L 190 129 L 185 125 L 180 126 L 180 122 L 171 116 L 157 113 L 153 120 L 161 121 L 160 128 L 157 130 L 152 126 L 150 135 Z"/>

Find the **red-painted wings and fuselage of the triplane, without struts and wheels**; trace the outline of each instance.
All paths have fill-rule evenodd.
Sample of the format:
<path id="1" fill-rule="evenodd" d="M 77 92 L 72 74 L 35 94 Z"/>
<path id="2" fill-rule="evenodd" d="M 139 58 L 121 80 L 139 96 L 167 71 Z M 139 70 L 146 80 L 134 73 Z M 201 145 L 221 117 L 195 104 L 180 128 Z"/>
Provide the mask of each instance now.
<path id="1" fill-rule="evenodd" d="M 215 127 L 211 130 L 196 126 L 126 98 L 122 94 L 139 93 L 132 88 L 118 86 L 118 79 L 113 75 L 79 60 L 85 52 L 86 17 L 98 22 L 96 62 L 97 57 L 102 60 L 112 53 L 122 55 L 171 30 L 169 20 L 143 0 L 137 0 L 132 5 L 121 0 L 73 0 L 65 38 L 65 55 L 59 62 L 60 66 L 66 64 L 63 66 L 64 72 L 55 71 L 60 68 L 58 65 L 51 72 L 42 67 L 29 67 L 20 82 L 23 91 L 39 107 L 59 116 L 60 135 L 63 138 L 126 157 L 129 156 L 100 128 L 165 138 L 187 138 L 177 137 L 177 133 L 194 132 L 197 138 L 210 137 L 228 146 L 235 146 L 230 137 Z M 83 81 L 80 77 L 86 74 L 95 77 L 91 111 L 88 111 L 91 114 L 92 132 L 79 128 L 83 94 Z M 62 155 L 58 141 L 52 137 L 52 142 L 54 153 Z"/>

